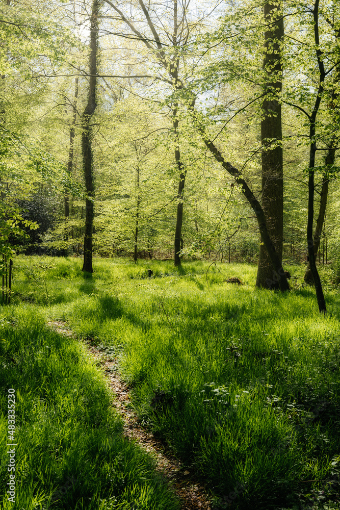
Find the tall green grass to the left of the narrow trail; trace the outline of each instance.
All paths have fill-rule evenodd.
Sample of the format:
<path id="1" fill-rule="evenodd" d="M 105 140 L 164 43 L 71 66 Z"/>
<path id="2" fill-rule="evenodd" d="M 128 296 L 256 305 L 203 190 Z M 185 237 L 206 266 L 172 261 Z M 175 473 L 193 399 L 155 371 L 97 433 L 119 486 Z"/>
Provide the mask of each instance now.
<path id="1" fill-rule="evenodd" d="M 35 306 L 3 311 L 1 508 L 178 508 L 152 458 L 124 440 L 122 422 L 85 347 L 48 329 Z M 15 390 L 15 503 L 7 494 L 9 388 Z"/>

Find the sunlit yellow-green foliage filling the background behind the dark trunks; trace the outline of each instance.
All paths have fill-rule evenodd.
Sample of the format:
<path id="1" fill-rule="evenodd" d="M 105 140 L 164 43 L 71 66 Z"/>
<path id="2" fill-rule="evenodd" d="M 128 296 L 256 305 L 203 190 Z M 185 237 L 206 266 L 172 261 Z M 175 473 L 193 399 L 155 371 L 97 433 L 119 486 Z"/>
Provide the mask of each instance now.
<path id="1" fill-rule="evenodd" d="M 166 37 L 168 28 L 159 24 L 155 14 L 162 11 L 172 23 L 171 5 L 169 2 L 162 7 L 154 6 L 154 11 L 150 7 L 152 21 L 162 37 Z M 41 182 L 46 183 L 53 195 L 58 217 L 54 231 L 45 237 L 46 249 L 81 253 L 85 194 L 80 161 L 79 112 L 83 111 L 87 87 L 84 75 L 87 53 L 82 32 L 87 14 L 86 10 L 72 13 L 66 4 L 55 7 L 45 30 L 40 31 L 43 20 L 37 16 L 34 24 L 34 3 L 25 2 L 14 9 L 12 14 L 18 19 L 13 27 L 8 23 L 12 6 L 3 6 L 2 30 L 4 37 L 8 32 L 8 50 L 13 52 L 14 74 L 11 77 L 8 73 L 1 84 L 4 91 L 2 115 L 5 119 L 3 147 L 7 144 L 10 149 L 5 155 L 6 171 L 2 170 L 2 180 L 5 188 L 8 184 L 13 193 L 24 199 L 37 193 Z M 41 6 L 43 12 L 48 12 L 49 8 L 47 3 Z M 284 243 L 287 258 L 303 261 L 306 259 L 305 184 L 309 142 L 306 142 L 307 117 L 299 108 L 308 109 L 315 93 L 315 78 L 310 72 L 310 66 L 316 64 L 315 45 L 310 12 L 302 9 L 299 3 L 290 3 L 284 8 L 285 74 L 281 98 L 285 159 Z M 24 23 L 25 9 L 29 9 L 30 14 Z M 140 5 L 136 4 L 132 9 L 136 10 L 134 19 L 139 20 L 136 21 L 138 29 L 149 34 L 147 21 L 137 16 L 137 11 L 142 14 Z M 333 19 L 331 9 L 331 4 L 324 3 L 320 17 L 321 45 L 329 68 L 336 63 L 338 54 L 334 38 L 337 8 L 334 7 L 333 28 L 326 20 Z M 178 47 L 163 47 L 163 56 L 168 63 L 171 59 L 179 59 L 181 86 L 175 92 L 172 84 L 166 81 L 167 69 L 162 68 L 162 59 L 159 60 L 160 55 L 155 48 L 150 51 L 144 41 L 136 40 L 130 33 L 124 38 L 114 35 L 120 34 L 114 17 L 101 20 L 99 74 L 103 78 L 98 78 L 98 107 L 93 119 L 95 253 L 106 257 L 118 254 L 130 256 L 133 253 L 138 202 L 138 256 L 171 257 L 178 203 L 178 169 L 173 154 L 178 144 L 182 165 L 187 172 L 182 227 L 186 256 L 225 259 L 230 242 L 231 260 L 256 260 L 259 240 L 255 222 L 249 218 L 249 208 L 241 198 L 241 190 L 233 187 L 233 180 L 206 154 L 197 123 L 190 115 L 188 101 L 196 97 L 195 108 L 204 129 L 216 139 L 219 149 L 242 171 L 252 188 L 258 190 L 261 185 L 261 87 L 265 79 L 262 41 L 266 27 L 262 17 L 261 6 L 253 2 L 244 6 L 228 3 L 226 10 L 216 10 L 210 16 L 199 11 L 191 12 L 188 39 L 183 39 L 183 44 Z M 63 30 L 66 27 L 63 34 L 60 27 Z M 20 30 L 23 31 L 20 45 L 15 49 L 13 40 Z M 69 30 L 78 34 L 78 42 L 70 36 Z M 301 30 L 306 42 L 300 38 Z M 32 37 L 28 40 L 30 34 Z M 130 36 L 133 38 L 129 39 Z M 83 43 L 79 42 L 80 39 Z M 63 47 L 58 53 L 57 46 L 61 41 Z M 58 53 L 56 59 L 54 52 Z M 48 55 L 49 60 L 47 57 L 39 58 L 38 53 Z M 19 54 L 22 55 L 21 60 Z M 25 74 L 28 65 L 31 78 L 40 73 L 35 81 Z M 116 73 L 126 77 L 146 73 L 151 78 L 110 78 Z M 44 78 L 44 74 L 52 78 Z M 58 74 L 58 78 L 53 78 Z M 79 104 L 75 112 L 71 176 L 65 168 L 74 113 L 74 74 L 79 74 Z M 160 79 L 153 80 L 154 76 Z M 334 72 L 329 72 L 322 111 L 317 119 L 320 148 L 317 151 L 317 167 L 320 173 L 324 149 L 332 130 L 336 129 L 336 101 L 334 98 L 331 103 L 329 101 L 333 81 Z M 177 101 L 176 118 L 179 120 L 176 134 L 171 113 L 173 101 Z M 328 108 L 330 104 L 331 109 Z M 335 162 L 332 171 L 337 166 Z M 137 168 L 140 172 L 139 186 Z M 66 194 L 70 196 L 68 219 L 64 217 L 63 207 Z M 329 206 L 328 214 L 331 214 L 332 207 Z M 333 232 L 331 236 L 329 245 L 336 244 L 337 234 Z"/>

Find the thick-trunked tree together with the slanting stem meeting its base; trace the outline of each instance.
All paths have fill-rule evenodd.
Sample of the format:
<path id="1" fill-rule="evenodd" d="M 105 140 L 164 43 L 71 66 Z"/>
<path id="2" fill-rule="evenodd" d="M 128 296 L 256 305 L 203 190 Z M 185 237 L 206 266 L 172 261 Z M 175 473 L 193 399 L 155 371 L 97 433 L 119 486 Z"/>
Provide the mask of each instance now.
<path id="1" fill-rule="evenodd" d="M 242 12 L 242 14 L 245 14 Z M 248 13 L 246 13 L 246 16 Z M 260 267 L 258 273 L 258 286 L 262 286 L 263 276 L 265 277 L 264 286 L 278 286 L 281 291 L 289 290 L 289 284 L 287 283 L 285 272 L 282 268 L 282 207 L 283 207 L 283 181 L 282 181 L 282 146 L 281 146 L 281 117 L 280 117 L 280 104 L 278 100 L 278 95 L 280 92 L 280 82 L 281 82 L 281 59 L 280 59 L 280 46 L 281 39 L 283 37 L 283 20 L 281 11 L 277 9 L 277 6 L 274 4 L 265 5 L 265 16 L 267 22 L 267 31 L 266 31 L 266 56 L 264 61 L 264 82 L 265 82 L 265 91 L 261 90 L 260 95 L 255 93 L 255 97 L 250 99 L 248 105 L 242 106 L 239 109 L 236 109 L 236 113 L 233 113 L 231 119 L 236 117 L 237 114 L 244 111 L 249 105 L 254 103 L 254 101 L 258 101 L 258 99 L 265 97 L 263 102 L 263 109 L 265 111 L 264 118 L 262 120 L 262 145 L 263 149 L 263 193 L 264 193 L 264 203 L 265 207 L 261 207 L 259 201 L 257 200 L 255 194 L 251 190 L 249 183 L 241 176 L 242 170 L 239 171 L 235 166 L 228 162 L 228 160 L 223 156 L 222 150 L 219 150 L 217 145 L 212 140 L 212 136 L 207 133 L 206 127 L 209 125 L 214 126 L 214 124 L 221 123 L 222 128 L 218 130 L 217 135 L 215 135 L 214 140 L 224 131 L 225 126 L 230 122 L 231 119 L 228 119 L 225 122 L 221 122 L 220 119 L 213 120 L 213 117 L 210 119 L 207 118 L 206 114 L 200 112 L 199 115 L 194 112 L 193 107 L 191 111 L 196 120 L 196 126 L 199 132 L 203 136 L 204 143 L 206 147 L 211 151 L 212 155 L 215 159 L 222 164 L 222 166 L 227 170 L 227 172 L 234 177 L 234 180 L 237 184 L 240 185 L 240 189 L 242 190 L 244 196 L 248 200 L 250 206 L 252 207 L 259 227 L 259 232 L 261 235 L 261 240 L 264 243 L 264 249 L 266 250 L 267 256 L 269 258 L 270 264 L 267 263 L 269 268 L 269 273 L 265 273 L 265 271 Z M 241 21 L 239 21 L 239 19 Z M 232 48 L 237 47 L 237 45 L 243 41 L 243 35 L 245 34 L 245 29 L 242 26 L 243 15 L 240 13 L 237 17 L 230 16 L 227 17 L 227 21 L 223 20 L 223 27 L 217 31 L 217 34 L 214 35 L 213 40 L 210 38 L 204 37 L 202 42 L 204 45 L 206 43 L 211 44 L 211 48 L 215 47 L 217 44 L 216 40 L 226 40 L 228 41 L 226 44 L 230 44 Z M 274 18 L 274 23 L 272 19 Z M 245 19 L 246 20 L 246 19 Z M 239 21 L 239 23 L 238 23 Z M 253 20 L 252 20 L 253 21 Z M 230 22 L 228 25 L 227 23 Z M 268 29 L 273 25 L 272 29 Z M 225 32 L 224 32 L 225 30 Z M 253 30 L 253 27 L 252 27 Z M 236 33 L 235 33 L 236 32 Z M 251 34 L 252 45 L 254 44 L 254 38 Z M 232 42 L 234 41 L 234 42 Z M 213 44 L 215 43 L 215 44 Z M 247 41 L 246 47 L 248 47 L 249 41 Z M 250 46 L 250 45 L 249 45 Z M 251 47 L 251 46 L 250 46 Z M 249 82 L 256 84 L 257 86 L 262 85 L 261 82 L 261 74 L 259 75 L 258 69 L 254 72 L 253 68 L 249 66 L 245 67 L 244 65 L 244 55 L 240 59 L 240 62 L 237 59 L 234 59 L 233 52 L 229 49 L 229 60 L 227 62 L 216 62 L 208 63 L 208 66 L 203 71 L 203 80 L 201 80 L 201 84 L 197 85 L 204 87 L 205 91 L 209 89 L 213 89 L 216 87 L 217 83 L 232 83 L 236 80 L 241 80 L 242 77 L 245 77 Z M 207 49 L 200 49 L 201 53 L 205 55 L 207 53 Z M 255 50 L 256 51 L 256 50 Z M 256 61 L 256 59 L 255 59 Z M 259 76 L 258 76 L 259 75 Z M 260 80 L 258 79 L 260 78 Z M 257 91 L 256 91 L 257 92 Z M 217 105 L 216 105 L 217 106 Z M 214 116 L 216 116 L 216 106 L 212 108 L 211 111 L 214 112 Z M 221 115 L 222 108 L 219 109 L 219 113 Z M 230 110 L 229 110 L 230 111 Z M 227 111 L 227 113 L 229 113 Z M 272 118 L 273 116 L 273 118 Z M 214 136 L 214 135 L 213 135 Z M 263 144 L 266 147 L 263 147 Z M 268 150 L 269 146 L 269 150 Z M 258 152 L 258 149 L 255 150 L 255 154 Z M 278 212 L 276 211 L 274 198 L 279 198 L 279 207 Z M 267 208 L 267 211 L 266 211 Z M 268 217 L 270 219 L 272 212 L 275 213 L 276 221 L 271 223 L 269 228 L 268 226 Z M 277 236 L 277 239 L 275 239 Z M 273 237 L 275 241 L 273 240 Z"/>

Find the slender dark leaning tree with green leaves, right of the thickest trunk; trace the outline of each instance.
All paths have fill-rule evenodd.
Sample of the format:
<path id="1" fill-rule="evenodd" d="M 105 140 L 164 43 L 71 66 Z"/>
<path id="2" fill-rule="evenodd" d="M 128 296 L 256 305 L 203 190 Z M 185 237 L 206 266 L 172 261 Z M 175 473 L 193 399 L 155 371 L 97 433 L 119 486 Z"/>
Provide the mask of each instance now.
<path id="1" fill-rule="evenodd" d="M 300 9 L 302 6 L 303 9 Z M 296 112 L 304 116 L 302 129 L 300 128 L 301 134 L 297 134 L 297 136 L 308 140 L 308 163 L 306 165 L 308 178 L 308 262 L 315 284 L 319 310 L 326 313 L 325 298 L 316 266 L 315 240 L 319 237 L 320 223 L 323 223 L 323 207 L 326 203 L 328 183 L 325 179 L 325 172 L 329 172 L 328 165 L 331 164 L 334 157 L 332 148 L 335 147 L 332 147 L 329 142 L 328 147 L 326 145 L 330 157 L 328 159 L 329 164 L 326 166 L 324 161 L 321 163 L 324 158 L 318 155 L 325 150 L 325 141 L 329 141 L 333 136 L 336 138 L 336 132 L 338 131 L 337 122 L 332 120 L 334 112 L 329 108 L 329 105 L 333 103 L 334 77 L 336 77 L 339 65 L 338 47 L 334 33 L 329 33 L 329 23 L 327 25 L 329 13 L 333 16 L 336 12 L 333 3 L 325 3 L 321 9 L 319 0 L 316 0 L 312 7 L 305 8 L 302 3 L 298 3 L 298 7 L 295 16 L 297 16 L 300 23 L 305 25 L 308 43 L 300 41 L 297 37 L 294 37 L 296 34 L 292 34 L 295 41 L 291 42 L 291 48 L 287 48 L 291 64 L 290 69 L 287 69 L 289 86 L 286 87 L 284 100 L 288 105 L 295 108 Z M 296 28 L 293 27 L 293 30 L 296 32 Z M 302 76 L 304 77 L 303 80 L 301 80 Z M 315 238 L 313 238 L 315 178 L 316 172 L 320 171 L 323 174 L 324 194 L 321 200 L 321 214 L 319 214 L 317 220 L 317 232 Z"/>

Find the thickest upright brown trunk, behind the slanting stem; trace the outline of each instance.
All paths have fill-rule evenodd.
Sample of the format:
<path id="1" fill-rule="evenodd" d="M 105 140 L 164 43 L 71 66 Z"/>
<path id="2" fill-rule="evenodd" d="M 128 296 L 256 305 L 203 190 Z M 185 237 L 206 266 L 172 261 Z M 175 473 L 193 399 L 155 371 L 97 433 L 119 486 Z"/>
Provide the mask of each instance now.
<path id="1" fill-rule="evenodd" d="M 282 263 L 283 242 L 283 160 L 282 124 L 279 94 L 282 89 L 281 41 L 283 38 L 283 18 L 277 5 L 264 6 L 265 22 L 269 28 L 265 32 L 264 69 L 267 74 L 265 92 L 267 95 L 262 108 L 261 120 L 262 150 L 262 207 L 267 219 L 267 230 Z M 278 17 L 275 22 L 273 18 Z M 279 142 L 277 142 L 279 140 Z M 264 240 L 261 238 L 256 287 L 278 289 L 278 282 L 272 283 L 273 266 Z"/>

